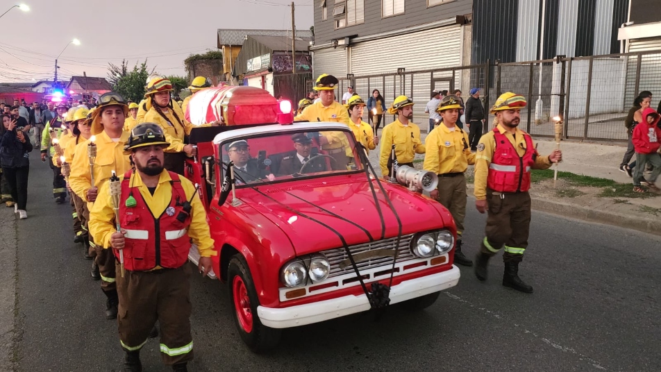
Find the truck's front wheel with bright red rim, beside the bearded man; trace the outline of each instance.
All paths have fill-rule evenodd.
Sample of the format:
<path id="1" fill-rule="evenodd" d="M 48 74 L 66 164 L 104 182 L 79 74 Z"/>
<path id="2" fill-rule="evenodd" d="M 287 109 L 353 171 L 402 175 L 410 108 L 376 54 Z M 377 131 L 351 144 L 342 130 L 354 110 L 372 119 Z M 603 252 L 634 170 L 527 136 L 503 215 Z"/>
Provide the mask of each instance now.
<path id="1" fill-rule="evenodd" d="M 280 341 L 281 330 L 269 328 L 257 315 L 259 300 L 248 264 L 241 255 L 230 260 L 227 269 L 230 303 L 241 339 L 255 353 L 274 348 Z"/>

